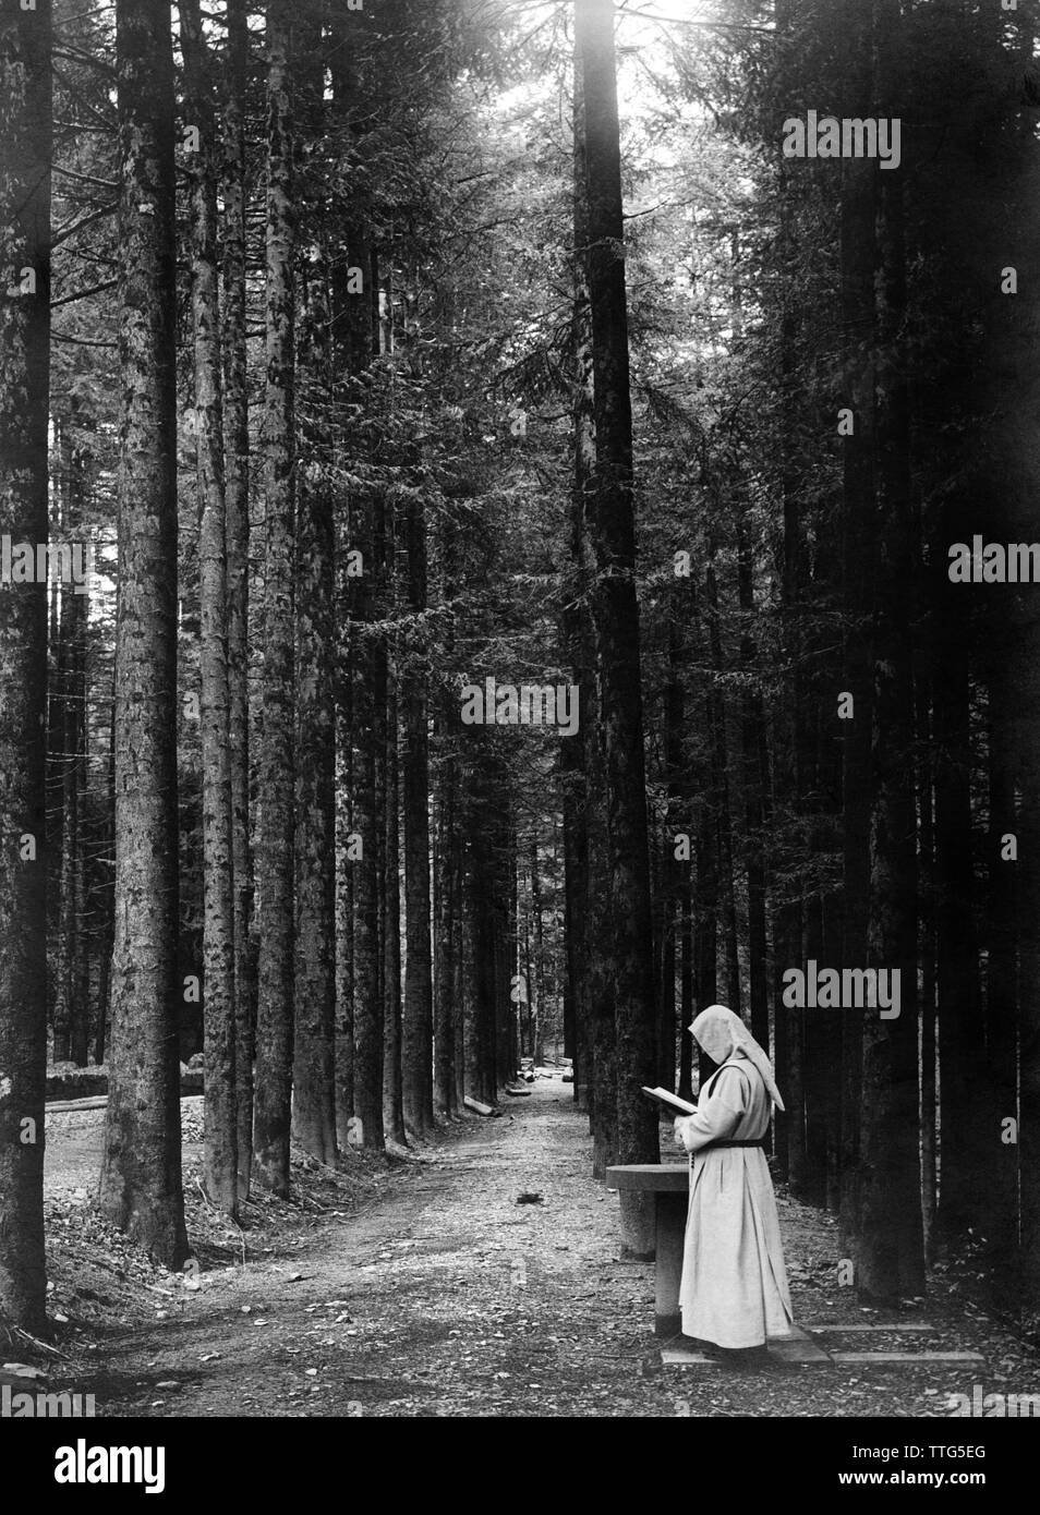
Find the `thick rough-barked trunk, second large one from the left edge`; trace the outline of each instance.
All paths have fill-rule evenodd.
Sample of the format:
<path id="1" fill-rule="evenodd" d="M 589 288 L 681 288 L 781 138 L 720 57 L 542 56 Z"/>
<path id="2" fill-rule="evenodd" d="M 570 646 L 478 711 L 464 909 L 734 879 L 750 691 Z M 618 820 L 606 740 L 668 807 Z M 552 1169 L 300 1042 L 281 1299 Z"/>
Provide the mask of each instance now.
<path id="1" fill-rule="evenodd" d="M 115 941 L 102 1210 L 188 1256 L 177 1047 L 177 435 L 173 47 L 167 0 L 118 0 L 120 586 Z"/>

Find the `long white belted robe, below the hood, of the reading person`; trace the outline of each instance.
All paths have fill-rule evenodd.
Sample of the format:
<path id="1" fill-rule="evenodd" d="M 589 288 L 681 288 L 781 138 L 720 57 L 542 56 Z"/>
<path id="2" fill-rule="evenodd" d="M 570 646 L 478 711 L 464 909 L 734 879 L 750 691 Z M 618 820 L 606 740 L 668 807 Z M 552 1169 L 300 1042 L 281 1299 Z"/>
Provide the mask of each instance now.
<path id="1" fill-rule="evenodd" d="M 690 1156 L 679 1309 L 682 1335 L 719 1347 L 760 1347 L 791 1326 L 773 1180 L 761 1147 L 770 1097 L 758 1068 L 737 1054 L 705 1085 L 696 1115 L 676 1132 Z"/>

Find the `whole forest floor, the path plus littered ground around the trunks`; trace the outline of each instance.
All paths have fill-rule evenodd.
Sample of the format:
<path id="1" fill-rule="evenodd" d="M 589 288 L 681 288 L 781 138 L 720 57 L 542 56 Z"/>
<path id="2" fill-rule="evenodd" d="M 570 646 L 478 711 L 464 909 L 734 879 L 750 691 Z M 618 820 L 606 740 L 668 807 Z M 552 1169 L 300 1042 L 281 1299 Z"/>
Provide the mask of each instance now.
<path id="1" fill-rule="evenodd" d="M 829 1327 L 828 1350 L 984 1360 L 661 1367 L 653 1265 L 622 1260 L 617 1195 L 591 1182 L 587 1120 L 558 1077 L 418 1153 L 350 1153 L 343 1173 L 297 1159 L 293 1201 L 250 1203 L 241 1230 L 200 1189 L 202 1100 L 182 1112 L 202 1270 L 185 1277 L 150 1268 L 97 1212 L 103 1112 L 49 1118 L 61 1356 L 0 1350 L 45 1365 L 52 1391 L 92 1392 L 99 1415 L 946 1417 L 976 1386 L 1040 1392 L 1040 1353 L 941 1279 L 926 1301 L 861 1307 L 835 1283 L 834 1223 L 782 1189 L 797 1326 Z M 934 1329 L 835 1330 L 901 1321 Z"/>

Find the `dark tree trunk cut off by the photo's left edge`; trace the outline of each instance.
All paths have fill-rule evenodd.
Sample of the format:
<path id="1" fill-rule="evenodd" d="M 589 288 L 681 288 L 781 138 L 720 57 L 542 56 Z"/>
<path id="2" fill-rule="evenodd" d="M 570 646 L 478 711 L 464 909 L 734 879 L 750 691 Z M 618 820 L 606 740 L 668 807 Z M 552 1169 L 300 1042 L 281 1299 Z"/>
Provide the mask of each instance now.
<path id="1" fill-rule="evenodd" d="M 50 6 L 0 20 L 0 265 L 36 292 L 0 298 L 0 533 L 47 542 Z M 0 1320 L 47 1326 L 47 592 L 0 588 Z M 30 845 L 32 842 L 32 845 Z M 30 856 L 32 853 L 32 856 Z"/>

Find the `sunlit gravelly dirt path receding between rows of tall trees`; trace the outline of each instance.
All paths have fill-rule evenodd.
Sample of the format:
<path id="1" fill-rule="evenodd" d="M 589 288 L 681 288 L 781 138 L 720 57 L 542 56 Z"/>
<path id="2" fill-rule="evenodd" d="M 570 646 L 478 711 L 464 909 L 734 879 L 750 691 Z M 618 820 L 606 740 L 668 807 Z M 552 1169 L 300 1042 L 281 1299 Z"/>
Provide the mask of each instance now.
<path id="1" fill-rule="evenodd" d="M 77 1388 L 117 1417 L 946 1415 L 976 1383 L 1040 1389 L 1035 1354 L 937 1303 L 907 1318 L 934 1324 L 932 1350 L 984 1342 L 984 1365 L 663 1370 L 653 1268 L 619 1259 L 617 1198 L 588 1171 L 570 1088 L 541 1082 L 402 1167 L 367 1212 L 203 1273 L 171 1318 L 99 1344 L 105 1370 Z M 882 1320 L 835 1288 L 825 1217 L 781 1198 L 781 1221 L 799 1324 Z M 867 1342 L 923 1350 L 878 1333 L 828 1344 Z"/>

